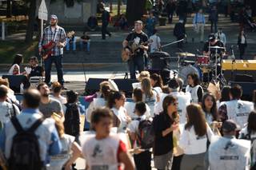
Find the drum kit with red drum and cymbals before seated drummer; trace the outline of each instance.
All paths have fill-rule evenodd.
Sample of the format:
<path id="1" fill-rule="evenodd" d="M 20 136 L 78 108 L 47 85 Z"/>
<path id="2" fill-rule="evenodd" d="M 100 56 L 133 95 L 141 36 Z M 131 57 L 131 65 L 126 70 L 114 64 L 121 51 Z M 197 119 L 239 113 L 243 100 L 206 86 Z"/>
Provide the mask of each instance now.
<path id="1" fill-rule="evenodd" d="M 210 46 L 215 53 L 209 56 L 194 54 L 194 53 L 176 53 L 178 55 L 178 76 L 181 77 L 186 85 L 186 77 L 190 73 L 198 74 L 202 81 L 202 86 L 207 88 L 210 81 L 225 81 L 220 69 L 222 54 L 218 54 L 219 49 L 225 49 L 220 46 Z M 180 66 L 182 65 L 182 66 Z M 225 84 L 226 82 L 222 82 Z"/>

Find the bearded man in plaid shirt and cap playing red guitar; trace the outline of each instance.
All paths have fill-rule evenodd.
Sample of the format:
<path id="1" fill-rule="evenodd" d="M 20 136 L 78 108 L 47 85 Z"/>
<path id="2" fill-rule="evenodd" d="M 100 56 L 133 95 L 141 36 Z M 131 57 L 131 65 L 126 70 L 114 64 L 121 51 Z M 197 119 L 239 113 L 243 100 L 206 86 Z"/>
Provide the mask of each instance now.
<path id="1" fill-rule="evenodd" d="M 50 70 L 54 62 L 57 69 L 58 82 L 62 85 L 63 89 L 66 89 L 63 86 L 64 79 L 62 68 L 63 47 L 66 45 L 66 33 L 62 27 L 58 26 L 58 18 L 54 14 L 50 16 L 50 26 L 47 26 L 43 31 L 42 38 L 38 45 L 39 53 L 42 53 L 42 50 L 44 50 L 43 47 L 47 45 L 49 46 L 48 49 L 50 52 L 44 57 L 46 70 L 45 82 L 47 85 L 50 85 Z"/>

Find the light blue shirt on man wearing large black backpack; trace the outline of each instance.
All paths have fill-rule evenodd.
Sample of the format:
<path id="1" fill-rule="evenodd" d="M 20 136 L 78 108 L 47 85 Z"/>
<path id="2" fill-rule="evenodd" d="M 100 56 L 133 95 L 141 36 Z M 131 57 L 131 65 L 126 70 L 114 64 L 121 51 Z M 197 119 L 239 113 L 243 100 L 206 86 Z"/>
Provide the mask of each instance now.
<path id="1" fill-rule="evenodd" d="M 39 113 L 38 109 L 23 109 L 22 113 L 17 116 L 19 123 L 25 130 L 30 128 L 41 117 L 42 113 Z M 10 149 L 15 134 L 16 130 L 10 121 L 6 123 L 0 133 L 0 148 L 5 153 L 7 159 L 10 157 Z M 42 125 L 35 130 L 35 134 L 38 136 L 42 162 L 46 163 L 48 156 L 61 152 L 62 144 L 59 140 L 53 119 L 47 118 L 43 121 Z"/>

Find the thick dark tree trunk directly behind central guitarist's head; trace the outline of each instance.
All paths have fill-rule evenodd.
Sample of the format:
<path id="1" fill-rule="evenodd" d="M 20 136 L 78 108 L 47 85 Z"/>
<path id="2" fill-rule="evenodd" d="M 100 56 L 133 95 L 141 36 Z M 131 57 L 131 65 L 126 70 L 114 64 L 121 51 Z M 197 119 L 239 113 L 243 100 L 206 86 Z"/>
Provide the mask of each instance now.
<path id="1" fill-rule="evenodd" d="M 136 20 L 141 20 L 146 0 L 127 0 L 126 18 L 129 26 L 133 26 Z"/>

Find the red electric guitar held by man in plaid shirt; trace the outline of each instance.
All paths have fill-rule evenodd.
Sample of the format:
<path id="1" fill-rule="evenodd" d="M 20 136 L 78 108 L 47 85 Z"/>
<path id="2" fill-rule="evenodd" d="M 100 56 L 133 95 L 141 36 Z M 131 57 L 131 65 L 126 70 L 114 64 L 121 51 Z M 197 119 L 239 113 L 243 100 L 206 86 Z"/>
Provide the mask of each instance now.
<path id="1" fill-rule="evenodd" d="M 73 35 L 74 35 L 74 31 L 72 30 L 68 34 L 66 34 L 66 37 L 63 38 L 62 40 L 66 39 L 66 38 L 71 38 Z M 53 54 L 52 49 L 54 48 L 54 46 L 57 43 L 58 42 L 54 42 L 54 40 L 52 40 L 48 44 L 42 45 L 42 51 L 41 51 L 40 55 L 42 56 L 43 60 L 46 60 L 46 58 L 48 58 L 49 56 L 51 56 Z"/>

